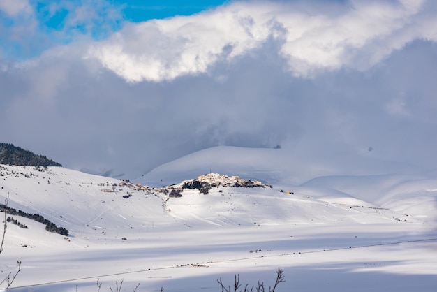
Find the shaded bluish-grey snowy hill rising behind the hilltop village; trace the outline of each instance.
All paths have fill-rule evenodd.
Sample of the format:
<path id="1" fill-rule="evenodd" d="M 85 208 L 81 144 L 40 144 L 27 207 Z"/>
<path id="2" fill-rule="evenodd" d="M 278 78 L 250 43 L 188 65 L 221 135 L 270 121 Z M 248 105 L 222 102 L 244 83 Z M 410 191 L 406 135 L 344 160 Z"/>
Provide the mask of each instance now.
<path id="1" fill-rule="evenodd" d="M 297 151 L 286 146 L 281 149 L 218 146 L 165 163 L 135 181 L 162 186 L 213 172 L 270 184 L 297 185 L 327 175 L 417 175 L 428 172 L 410 164 L 385 161 L 373 154 L 368 151 L 306 154 L 302 149 Z"/>

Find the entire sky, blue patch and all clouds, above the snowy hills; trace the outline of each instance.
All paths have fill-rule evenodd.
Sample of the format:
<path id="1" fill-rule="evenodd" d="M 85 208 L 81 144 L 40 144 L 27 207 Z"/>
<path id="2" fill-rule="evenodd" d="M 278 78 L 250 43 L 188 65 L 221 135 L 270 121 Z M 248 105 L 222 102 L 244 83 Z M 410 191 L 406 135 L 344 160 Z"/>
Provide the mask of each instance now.
<path id="1" fill-rule="evenodd" d="M 431 0 L 1 0 L 0 141 L 108 175 L 216 145 L 433 168 L 436 20 Z"/>

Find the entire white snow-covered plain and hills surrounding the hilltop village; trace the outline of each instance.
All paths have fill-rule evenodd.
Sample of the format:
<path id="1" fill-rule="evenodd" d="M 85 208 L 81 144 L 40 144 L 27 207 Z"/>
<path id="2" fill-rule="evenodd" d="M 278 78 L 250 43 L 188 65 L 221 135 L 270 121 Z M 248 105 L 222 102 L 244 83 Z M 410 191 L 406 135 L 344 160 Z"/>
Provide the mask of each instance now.
<path id="1" fill-rule="evenodd" d="M 305 165 L 285 151 L 214 147 L 134 186 L 66 168 L 1 166 L 1 200 L 9 194 L 9 207 L 70 234 L 13 216 L 29 228 L 8 224 L 0 276 L 21 261 L 11 291 L 98 291 L 97 282 L 115 291 L 121 281 L 121 291 L 221 291 L 217 279 L 232 286 L 235 274 L 242 288 L 268 287 L 281 268 L 286 282 L 276 291 L 437 291 L 435 173 L 369 157 L 348 168 L 317 157 Z M 210 172 L 265 185 L 185 189 L 180 198 L 133 189 Z"/>

